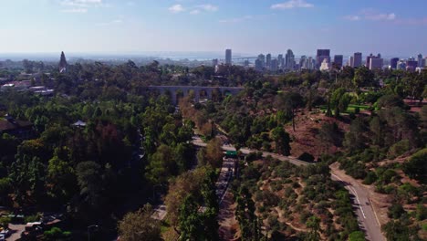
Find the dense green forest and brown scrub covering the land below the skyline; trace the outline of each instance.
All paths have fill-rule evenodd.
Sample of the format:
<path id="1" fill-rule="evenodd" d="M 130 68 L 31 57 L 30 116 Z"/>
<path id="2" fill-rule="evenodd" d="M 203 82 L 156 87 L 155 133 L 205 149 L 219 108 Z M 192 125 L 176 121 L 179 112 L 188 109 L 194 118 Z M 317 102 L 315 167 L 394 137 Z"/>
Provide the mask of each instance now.
<path id="1" fill-rule="evenodd" d="M 427 238 L 425 70 L 263 75 L 237 66 L 215 73 L 129 61 L 77 63 L 59 73 L 56 66 L 26 61 L 0 69 L 0 77 L 20 81 L 21 71 L 38 73 L 31 85 L 55 89 L 55 95 L 0 92 L 2 117 L 33 124 L 30 137 L 0 136 L 4 227 L 54 213 L 63 223 L 44 231 L 45 240 L 83 239 L 91 225 L 96 240 L 217 240 L 214 192 L 223 154 L 215 136 L 221 134 L 237 150 L 312 163 L 297 167 L 242 155 L 230 185 L 237 238 L 363 240 L 349 192 L 330 179 L 337 163 L 387 197 L 381 227 L 388 240 Z M 202 103 L 192 93 L 175 108 L 170 95 L 148 91 L 150 85 L 245 89 Z M 194 133 L 206 149 L 196 150 Z M 161 200 L 168 215 L 153 221 L 148 203 Z"/>

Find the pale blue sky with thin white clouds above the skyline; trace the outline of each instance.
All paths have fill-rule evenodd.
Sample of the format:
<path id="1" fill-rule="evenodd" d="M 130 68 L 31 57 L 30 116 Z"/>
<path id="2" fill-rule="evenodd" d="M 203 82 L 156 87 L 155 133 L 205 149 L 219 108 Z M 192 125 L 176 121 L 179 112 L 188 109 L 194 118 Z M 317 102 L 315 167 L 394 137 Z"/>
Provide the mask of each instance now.
<path id="1" fill-rule="evenodd" d="M 425 0 L 0 0 L 0 53 L 427 55 Z"/>

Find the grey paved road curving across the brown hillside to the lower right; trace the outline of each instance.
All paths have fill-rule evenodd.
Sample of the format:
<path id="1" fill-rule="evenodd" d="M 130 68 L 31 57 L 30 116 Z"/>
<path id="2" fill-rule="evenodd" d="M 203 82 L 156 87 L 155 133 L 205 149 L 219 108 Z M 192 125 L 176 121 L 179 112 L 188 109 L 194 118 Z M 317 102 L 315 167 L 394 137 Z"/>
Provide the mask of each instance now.
<path id="1" fill-rule="evenodd" d="M 206 146 L 206 143 L 204 143 L 198 137 L 193 137 L 193 144 L 200 147 Z M 222 148 L 224 151 L 235 151 L 235 148 L 231 145 L 223 145 Z M 244 154 L 248 154 L 250 152 L 257 152 L 256 150 L 251 150 L 248 148 L 241 148 L 239 151 Z M 263 157 L 266 157 L 268 155 L 280 161 L 291 162 L 298 166 L 310 164 L 308 162 L 297 160 L 297 158 L 295 157 L 287 157 L 272 152 L 263 152 Z M 343 182 L 338 176 L 338 173 L 332 173 L 331 179 L 334 181 Z M 358 215 L 359 225 L 366 232 L 367 239 L 370 241 L 386 240 L 381 233 L 380 222 L 378 221 L 377 214 L 373 210 L 373 207 L 370 205 L 369 197 L 367 195 L 367 192 L 365 192 L 364 188 L 360 186 L 355 180 L 354 182 L 343 183 L 345 184 L 346 189 L 349 190 L 349 192 L 355 195 L 356 197 L 353 200 L 353 204 L 355 207 L 358 208 L 356 215 Z"/>

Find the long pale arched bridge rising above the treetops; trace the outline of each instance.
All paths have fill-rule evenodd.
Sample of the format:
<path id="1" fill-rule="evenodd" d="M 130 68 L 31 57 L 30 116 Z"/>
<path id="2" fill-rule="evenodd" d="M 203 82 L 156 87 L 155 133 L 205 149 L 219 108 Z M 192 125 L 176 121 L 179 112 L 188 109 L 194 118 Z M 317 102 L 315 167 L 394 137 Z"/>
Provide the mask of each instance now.
<path id="1" fill-rule="evenodd" d="M 201 93 L 204 93 L 204 96 L 208 100 L 212 100 L 212 93 L 214 90 L 221 93 L 223 96 L 226 94 L 237 95 L 240 91 L 244 90 L 241 87 L 203 87 L 203 86 L 149 86 L 150 90 L 157 90 L 161 94 L 169 94 L 172 97 L 172 103 L 176 105 L 178 103 L 178 94 L 182 91 L 184 97 L 187 97 L 190 94 L 190 91 L 194 91 L 194 100 L 196 102 L 200 101 Z"/>

